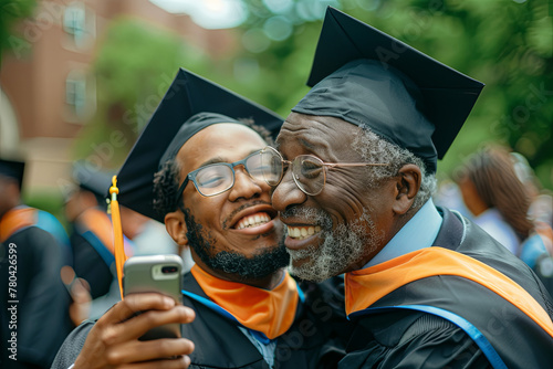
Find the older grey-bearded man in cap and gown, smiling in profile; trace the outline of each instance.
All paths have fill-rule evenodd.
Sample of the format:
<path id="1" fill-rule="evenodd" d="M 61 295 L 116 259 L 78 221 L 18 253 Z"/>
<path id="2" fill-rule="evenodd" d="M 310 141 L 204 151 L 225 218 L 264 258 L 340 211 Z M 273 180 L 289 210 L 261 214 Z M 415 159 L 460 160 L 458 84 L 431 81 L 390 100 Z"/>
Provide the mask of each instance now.
<path id="1" fill-rule="evenodd" d="M 334 9 L 315 83 L 263 155 L 291 273 L 346 273 L 341 367 L 551 368 L 543 285 L 430 198 L 482 84 Z"/>

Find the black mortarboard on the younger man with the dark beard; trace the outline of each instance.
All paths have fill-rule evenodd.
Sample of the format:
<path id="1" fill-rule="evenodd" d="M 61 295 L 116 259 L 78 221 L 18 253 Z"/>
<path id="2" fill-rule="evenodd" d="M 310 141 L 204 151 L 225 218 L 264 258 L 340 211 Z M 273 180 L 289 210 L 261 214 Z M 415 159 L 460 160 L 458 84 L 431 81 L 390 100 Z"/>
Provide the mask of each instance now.
<path id="1" fill-rule="evenodd" d="M 164 222 L 154 210 L 154 175 L 199 130 L 218 123 L 252 119 L 276 135 L 283 119 L 218 84 L 180 68 L 117 176 L 118 200 Z"/>

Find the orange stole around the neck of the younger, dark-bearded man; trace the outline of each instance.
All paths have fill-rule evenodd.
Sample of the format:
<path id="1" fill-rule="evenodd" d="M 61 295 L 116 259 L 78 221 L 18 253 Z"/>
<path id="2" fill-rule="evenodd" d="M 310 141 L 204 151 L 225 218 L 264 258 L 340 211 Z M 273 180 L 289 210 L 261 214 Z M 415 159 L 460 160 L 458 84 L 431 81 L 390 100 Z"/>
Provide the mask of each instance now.
<path id="1" fill-rule="evenodd" d="M 298 285 L 288 272 L 271 291 L 220 280 L 198 265 L 190 272 L 206 295 L 247 328 L 273 339 L 286 333 L 294 323 Z"/>

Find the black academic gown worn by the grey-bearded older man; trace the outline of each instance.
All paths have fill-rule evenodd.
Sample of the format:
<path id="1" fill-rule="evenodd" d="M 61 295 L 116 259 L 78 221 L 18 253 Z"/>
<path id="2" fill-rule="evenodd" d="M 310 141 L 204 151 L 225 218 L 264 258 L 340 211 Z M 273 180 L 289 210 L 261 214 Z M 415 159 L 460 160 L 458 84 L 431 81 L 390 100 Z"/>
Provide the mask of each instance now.
<path id="1" fill-rule="evenodd" d="M 522 286 L 553 316 L 551 296 L 521 260 L 480 228 L 447 209 L 434 246 L 471 256 Z M 465 222 L 465 231 L 463 231 Z M 422 267 L 422 266 L 421 266 Z M 533 320 L 488 288 L 459 276 L 410 282 L 371 307 L 430 305 L 476 326 L 508 368 L 553 368 L 553 339 Z M 340 368 L 489 368 L 474 341 L 457 325 L 426 313 L 392 309 L 358 315 Z"/>

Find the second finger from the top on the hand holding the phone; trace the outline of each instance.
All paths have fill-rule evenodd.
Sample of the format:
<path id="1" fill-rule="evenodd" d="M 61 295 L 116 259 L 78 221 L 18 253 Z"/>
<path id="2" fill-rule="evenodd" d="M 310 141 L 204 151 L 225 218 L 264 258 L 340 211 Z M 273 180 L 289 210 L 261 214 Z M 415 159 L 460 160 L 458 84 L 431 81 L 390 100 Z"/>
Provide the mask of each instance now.
<path id="1" fill-rule="evenodd" d="M 148 310 L 117 325 L 106 327 L 102 340 L 111 346 L 127 340 L 137 339 L 154 327 L 166 324 L 188 324 L 196 317 L 189 307 L 178 305 L 169 310 Z"/>

